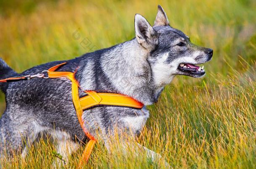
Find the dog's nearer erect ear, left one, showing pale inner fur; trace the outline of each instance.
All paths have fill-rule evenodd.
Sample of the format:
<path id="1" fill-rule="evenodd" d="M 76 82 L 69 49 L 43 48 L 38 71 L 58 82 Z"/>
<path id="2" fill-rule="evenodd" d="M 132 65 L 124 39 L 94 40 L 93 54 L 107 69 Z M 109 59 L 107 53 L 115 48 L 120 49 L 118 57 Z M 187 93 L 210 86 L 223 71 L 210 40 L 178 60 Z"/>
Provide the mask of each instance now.
<path id="1" fill-rule="evenodd" d="M 135 15 L 134 26 L 136 39 L 140 45 L 148 49 L 157 45 L 157 32 L 143 16 Z"/>

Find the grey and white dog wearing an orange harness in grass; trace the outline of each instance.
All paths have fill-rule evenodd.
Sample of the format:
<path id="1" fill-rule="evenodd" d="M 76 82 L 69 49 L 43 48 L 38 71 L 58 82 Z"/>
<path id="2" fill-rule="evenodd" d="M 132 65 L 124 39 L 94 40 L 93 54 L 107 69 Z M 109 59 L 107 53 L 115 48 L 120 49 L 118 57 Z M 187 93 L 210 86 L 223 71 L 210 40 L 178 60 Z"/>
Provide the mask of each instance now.
<path id="1" fill-rule="evenodd" d="M 40 73 L 67 62 L 57 71 L 76 71 L 75 78 L 84 91 L 122 93 L 151 105 L 176 75 L 204 76 L 204 69 L 195 64 L 210 61 L 213 50 L 194 45 L 187 35 L 172 28 L 160 5 L 153 27 L 143 16 L 135 15 L 135 34 L 136 38 L 110 48 L 69 61 L 45 63 L 21 74 L 0 60 L 0 79 Z M 86 140 L 73 106 L 71 81 L 67 78 L 0 83 L 0 88 L 6 98 L 6 110 L 0 119 L 0 151 L 9 154 L 20 151 L 25 155 L 28 145 L 24 141 L 35 141 L 47 133 L 56 140 L 57 151 L 67 158 L 78 147 L 78 140 Z M 84 95 L 82 91 L 80 94 Z M 108 136 L 115 127 L 132 131 L 136 136 L 148 117 L 145 107 L 137 110 L 98 106 L 83 114 L 86 129 L 96 139 L 103 139 L 107 147 Z M 97 138 L 99 130 L 101 138 Z M 158 156 L 146 150 L 150 158 Z"/>

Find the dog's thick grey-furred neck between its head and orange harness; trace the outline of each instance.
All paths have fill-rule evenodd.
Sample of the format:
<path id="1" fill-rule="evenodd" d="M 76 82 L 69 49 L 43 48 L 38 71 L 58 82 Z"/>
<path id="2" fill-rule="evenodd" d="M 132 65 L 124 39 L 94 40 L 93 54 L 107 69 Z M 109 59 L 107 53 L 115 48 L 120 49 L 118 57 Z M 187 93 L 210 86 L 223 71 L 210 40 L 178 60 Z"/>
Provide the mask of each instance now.
<path id="1" fill-rule="evenodd" d="M 84 55 L 76 73 L 83 90 L 122 93 L 150 105 L 163 86 L 155 84 L 147 56 L 136 39 Z"/>

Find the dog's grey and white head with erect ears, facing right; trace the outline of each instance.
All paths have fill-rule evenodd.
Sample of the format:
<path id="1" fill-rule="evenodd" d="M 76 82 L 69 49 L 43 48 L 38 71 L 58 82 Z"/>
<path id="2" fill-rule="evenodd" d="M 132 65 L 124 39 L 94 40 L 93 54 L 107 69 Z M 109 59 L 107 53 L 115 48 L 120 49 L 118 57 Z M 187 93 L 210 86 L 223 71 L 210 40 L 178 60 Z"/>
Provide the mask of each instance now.
<path id="1" fill-rule="evenodd" d="M 182 31 L 172 28 L 160 5 L 153 27 L 143 16 L 135 15 L 135 32 L 138 43 L 148 51 L 157 85 L 170 83 L 175 75 L 204 76 L 204 68 L 196 64 L 210 61 L 213 50 L 194 45 Z"/>

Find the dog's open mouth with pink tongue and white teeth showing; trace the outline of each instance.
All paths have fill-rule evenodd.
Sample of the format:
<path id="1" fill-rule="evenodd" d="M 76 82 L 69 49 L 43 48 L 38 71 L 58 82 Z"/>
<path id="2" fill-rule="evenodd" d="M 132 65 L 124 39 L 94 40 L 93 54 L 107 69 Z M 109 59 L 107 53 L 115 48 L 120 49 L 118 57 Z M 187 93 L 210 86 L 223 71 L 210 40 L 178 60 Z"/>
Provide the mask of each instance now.
<path id="1" fill-rule="evenodd" d="M 196 74 L 196 75 L 204 75 L 204 66 L 196 66 L 191 63 L 181 63 L 178 66 L 178 69 L 183 72 L 191 73 L 191 74 Z"/>

